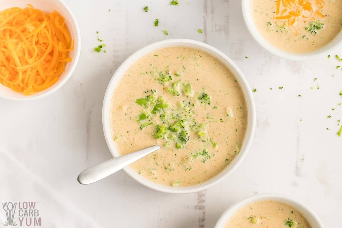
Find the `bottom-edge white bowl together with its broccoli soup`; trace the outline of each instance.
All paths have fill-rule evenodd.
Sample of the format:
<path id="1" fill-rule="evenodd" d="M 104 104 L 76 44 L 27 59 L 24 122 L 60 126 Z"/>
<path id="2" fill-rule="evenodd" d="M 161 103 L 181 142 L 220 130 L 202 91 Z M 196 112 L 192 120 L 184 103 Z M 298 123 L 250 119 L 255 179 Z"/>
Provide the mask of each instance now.
<path id="1" fill-rule="evenodd" d="M 324 228 L 306 205 L 280 194 L 258 194 L 229 207 L 215 228 Z"/>

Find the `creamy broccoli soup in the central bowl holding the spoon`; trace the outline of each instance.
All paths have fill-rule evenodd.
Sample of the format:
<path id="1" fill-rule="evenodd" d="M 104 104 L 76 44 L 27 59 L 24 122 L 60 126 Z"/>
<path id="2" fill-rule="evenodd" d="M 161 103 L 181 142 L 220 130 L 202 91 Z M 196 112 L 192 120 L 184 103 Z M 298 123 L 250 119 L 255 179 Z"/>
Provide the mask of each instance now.
<path id="1" fill-rule="evenodd" d="M 244 93 L 223 63 L 197 49 L 171 47 L 143 56 L 124 73 L 110 124 L 122 155 L 161 146 L 131 165 L 137 173 L 189 186 L 214 177 L 238 155 L 247 114 Z"/>

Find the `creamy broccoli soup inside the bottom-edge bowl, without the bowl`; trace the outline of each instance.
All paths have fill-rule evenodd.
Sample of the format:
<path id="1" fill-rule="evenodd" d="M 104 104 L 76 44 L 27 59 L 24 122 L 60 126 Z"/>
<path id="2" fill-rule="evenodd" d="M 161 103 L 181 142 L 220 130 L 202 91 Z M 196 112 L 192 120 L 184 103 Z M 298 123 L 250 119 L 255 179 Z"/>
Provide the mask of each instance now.
<path id="1" fill-rule="evenodd" d="M 258 201 L 242 207 L 228 219 L 226 228 L 311 228 L 293 207 L 277 201 Z"/>

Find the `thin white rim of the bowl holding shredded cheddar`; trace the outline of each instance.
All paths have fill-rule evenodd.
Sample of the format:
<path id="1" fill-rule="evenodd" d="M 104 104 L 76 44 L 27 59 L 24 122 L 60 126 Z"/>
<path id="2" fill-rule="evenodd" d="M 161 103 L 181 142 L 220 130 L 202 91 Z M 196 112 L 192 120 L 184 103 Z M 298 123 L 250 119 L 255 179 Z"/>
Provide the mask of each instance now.
<path id="1" fill-rule="evenodd" d="M 74 13 L 71 11 L 71 9 L 69 8 L 69 6 L 63 0 L 58 0 L 58 2 L 60 2 L 62 4 L 62 6 L 68 11 L 70 17 L 72 18 L 72 23 L 74 23 L 75 28 L 76 28 L 76 35 L 77 35 L 76 55 L 75 55 L 73 65 L 71 65 L 70 70 L 66 73 L 66 75 L 64 76 L 64 78 L 61 81 L 57 82 L 58 84 L 56 84 L 56 86 L 54 88 L 52 88 L 51 90 L 49 90 L 47 92 L 43 92 L 37 96 L 29 95 L 29 96 L 19 98 L 19 97 L 4 96 L 4 95 L 0 94 L 0 98 L 4 98 L 7 100 L 15 100 L 15 101 L 29 101 L 29 100 L 36 100 L 39 98 L 43 98 L 43 97 L 46 97 L 46 96 L 54 93 L 58 89 L 60 89 L 65 84 L 65 82 L 68 81 L 68 79 L 71 77 L 71 75 L 73 74 L 73 72 L 77 66 L 78 60 L 80 58 L 80 54 L 81 54 L 81 32 L 80 32 L 80 28 L 78 26 L 78 22 L 76 20 L 76 17 L 74 15 Z"/>

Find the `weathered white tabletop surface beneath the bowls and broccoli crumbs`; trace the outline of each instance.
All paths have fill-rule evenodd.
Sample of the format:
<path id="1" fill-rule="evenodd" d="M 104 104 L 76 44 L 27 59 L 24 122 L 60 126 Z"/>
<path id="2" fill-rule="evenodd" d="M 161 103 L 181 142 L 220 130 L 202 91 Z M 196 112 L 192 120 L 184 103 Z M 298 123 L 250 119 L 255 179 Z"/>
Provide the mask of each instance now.
<path id="1" fill-rule="evenodd" d="M 81 29 L 74 74 L 46 98 L 25 103 L 0 99 L 0 201 L 39 202 L 43 227 L 209 228 L 232 203 L 277 192 L 306 203 L 325 227 L 339 226 L 342 137 L 336 132 L 342 119 L 337 105 L 342 102 L 342 71 L 336 70 L 334 57 L 298 63 L 267 53 L 248 33 L 238 0 L 179 0 L 179 6 L 170 6 L 169 0 L 66 2 Z M 148 13 L 142 10 L 145 5 Z M 153 26 L 155 18 L 159 27 Z M 107 53 L 93 51 L 99 44 L 95 31 Z M 257 129 L 248 156 L 230 177 L 199 193 L 156 192 L 122 171 L 81 186 L 76 180 L 80 171 L 111 158 L 101 123 L 111 76 L 137 49 L 171 38 L 218 48 L 258 90 L 253 94 Z"/>

